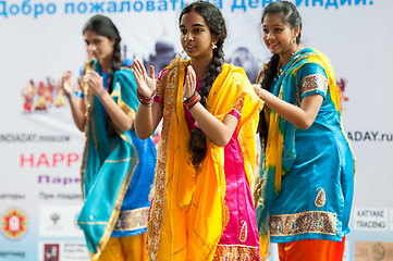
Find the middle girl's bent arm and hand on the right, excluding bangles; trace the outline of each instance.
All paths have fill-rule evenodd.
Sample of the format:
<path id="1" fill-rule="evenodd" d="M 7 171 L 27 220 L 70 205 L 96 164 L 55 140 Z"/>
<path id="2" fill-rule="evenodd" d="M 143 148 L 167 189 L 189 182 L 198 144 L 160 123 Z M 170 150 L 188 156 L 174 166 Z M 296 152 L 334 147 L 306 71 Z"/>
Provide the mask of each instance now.
<path id="1" fill-rule="evenodd" d="M 188 66 L 183 98 L 191 97 L 195 91 L 195 87 L 196 75 L 193 67 Z M 208 112 L 206 108 L 199 102 L 191 108 L 189 112 L 194 116 L 195 121 L 197 121 L 200 129 L 205 133 L 205 135 L 219 147 L 225 146 L 236 129 L 237 117 L 228 114 L 221 122 L 212 114 L 210 114 L 210 112 Z"/>

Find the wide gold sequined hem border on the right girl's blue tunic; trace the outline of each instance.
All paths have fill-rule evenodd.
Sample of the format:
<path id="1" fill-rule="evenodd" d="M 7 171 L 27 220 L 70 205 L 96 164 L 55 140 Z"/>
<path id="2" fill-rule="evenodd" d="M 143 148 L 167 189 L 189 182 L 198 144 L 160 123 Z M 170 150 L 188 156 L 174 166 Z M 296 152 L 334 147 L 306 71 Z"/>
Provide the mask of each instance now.
<path id="1" fill-rule="evenodd" d="M 294 236 L 304 233 L 336 235 L 336 214 L 307 211 L 295 214 L 271 215 L 271 236 Z"/>

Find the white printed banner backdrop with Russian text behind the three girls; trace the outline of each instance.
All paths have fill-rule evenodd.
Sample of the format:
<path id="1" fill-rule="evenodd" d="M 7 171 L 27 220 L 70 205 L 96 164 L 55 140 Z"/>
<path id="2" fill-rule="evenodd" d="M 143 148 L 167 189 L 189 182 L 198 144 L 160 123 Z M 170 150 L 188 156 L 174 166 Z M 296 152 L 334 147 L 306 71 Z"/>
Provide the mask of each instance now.
<path id="1" fill-rule="evenodd" d="M 123 54 L 158 71 L 181 53 L 177 18 L 189 2 L 0 1 L 0 260 L 89 260 L 75 224 L 84 137 L 59 87 L 62 72 L 78 75 L 86 60 L 84 23 L 97 13 L 110 16 Z M 210 2 L 226 20 L 226 61 L 254 82 L 270 58 L 260 16 L 272 1 Z M 393 260 L 393 1 L 294 3 L 303 45 L 330 58 L 345 97 L 344 124 L 357 158 L 345 260 Z"/>

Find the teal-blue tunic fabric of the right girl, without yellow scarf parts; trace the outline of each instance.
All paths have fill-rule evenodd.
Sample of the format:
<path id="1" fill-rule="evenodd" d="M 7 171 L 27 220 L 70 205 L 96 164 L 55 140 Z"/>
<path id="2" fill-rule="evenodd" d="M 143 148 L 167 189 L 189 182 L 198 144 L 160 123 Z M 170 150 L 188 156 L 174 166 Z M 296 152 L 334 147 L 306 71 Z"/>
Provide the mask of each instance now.
<path id="1" fill-rule="evenodd" d="M 265 173 L 265 206 L 257 208 L 258 227 L 262 232 L 272 231 L 272 220 L 283 215 L 295 216 L 299 213 L 330 213 L 336 216 L 336 234 L 324 234 L 315 229 L 302 231 L 302 220 L 286 220 L 292 224 L 290 234 L 271 234 L 271 243 L 288 243 L 303 239 L 327 239 L 341 241 L 349 233 L 349 214 L 354 192 L 354 156 L 342 126 L 340 111 L 336 111 L 330 91 L 314 90 L 302 94 L 302 79 L 309 75 L 321 75 L 327 78 L 323 69 L 316 63 L 308 63 L 303 55 L 315 53 L 312 49 L 304 49 L 296 53 L 283 70 L 284 74 L 272 83 L 272 92 L 279 95 L 279 86 L 283 85 L 283 100 L 296 104 L 296 92 L 300 100 L 309 95 L 323 96 L 323 102 L 312 125 L 307 129 L 296 128 L 293 124 L 280 119 L 280 129 L 284 134 L 283 170 L 281 190 L 274 191 L 274 174 Z M 330 86 L 329 86 L 330 88 Z M 261 165 L 263 163 L 263 157 Z M 326 203 L 316 206 L 316 198 L 323 190 Z M 261 208 L 263 207 L 263 208 Z M 265 216 L 265 220 L 262 219 Z M 268 220 L 266 220 L 268 219 Z M 291 217 L 292 219 L 292 217 Z M 311 214 L 312 219 L 312 214 Z M 269 223 L 270 220 L 270 223 Z M 320 226 L 323 224 L 311 224 Z M 274 229 L 277 227 L 273 227 Z M 274 231 L 273 229 L 273 231 Z"/>

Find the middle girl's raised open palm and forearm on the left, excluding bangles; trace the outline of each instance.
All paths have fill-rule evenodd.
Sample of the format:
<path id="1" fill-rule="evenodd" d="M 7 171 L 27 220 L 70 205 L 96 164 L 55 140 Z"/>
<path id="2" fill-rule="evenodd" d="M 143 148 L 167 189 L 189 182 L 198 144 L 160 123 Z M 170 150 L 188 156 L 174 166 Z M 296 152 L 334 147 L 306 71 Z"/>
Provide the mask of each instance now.
<path id="1" fill-rule="evenodd" d="M 133 73 L 137 84 L 138 91 L 144 97 L 151 97 L 156 91 L 155 69 L 149 67 L 149 76 L 140 61 L 133 63 Z M 156 130 L 162 119 L 162 108 L 159 103 L 152 102 L 152 105 L 139 103 L 135 116 L 135 132 L 140 139 L 149 138 Z"/>

